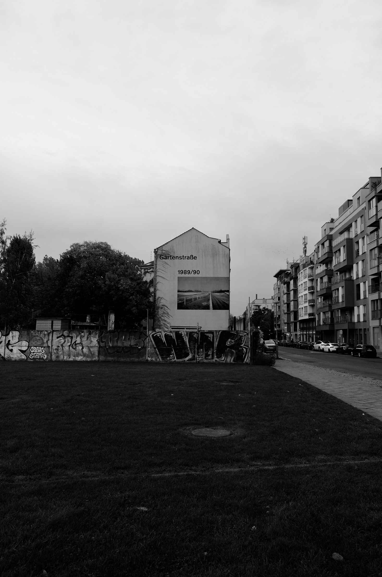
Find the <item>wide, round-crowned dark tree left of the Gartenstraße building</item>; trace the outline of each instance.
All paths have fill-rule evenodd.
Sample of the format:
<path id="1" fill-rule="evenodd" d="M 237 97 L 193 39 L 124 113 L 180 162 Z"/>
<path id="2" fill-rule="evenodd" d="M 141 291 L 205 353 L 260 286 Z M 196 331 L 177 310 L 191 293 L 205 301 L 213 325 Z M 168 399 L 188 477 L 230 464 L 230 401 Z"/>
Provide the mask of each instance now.
<path id="1" fill-rule="evenodd" d="M 84 319 L 90 314 L 103 320 L 114 310 L 115 328 L 136 328 L 152 307 L 142 264 L 107 242 L 74 243 L 59 261 L 44 257 L 36 267 L 36 309 L 44 316 Z"/>

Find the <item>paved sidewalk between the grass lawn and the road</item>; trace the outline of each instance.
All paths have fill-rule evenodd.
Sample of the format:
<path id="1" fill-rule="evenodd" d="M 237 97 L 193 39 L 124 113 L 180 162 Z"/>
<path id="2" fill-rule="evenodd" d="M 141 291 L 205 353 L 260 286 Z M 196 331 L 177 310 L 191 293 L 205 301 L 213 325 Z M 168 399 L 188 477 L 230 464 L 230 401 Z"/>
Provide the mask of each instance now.
<path id="1" fill-rule="evenodd" d="M 382 381 L 286 359 L 275 369 L 297 377 L 382 421 Z"/>

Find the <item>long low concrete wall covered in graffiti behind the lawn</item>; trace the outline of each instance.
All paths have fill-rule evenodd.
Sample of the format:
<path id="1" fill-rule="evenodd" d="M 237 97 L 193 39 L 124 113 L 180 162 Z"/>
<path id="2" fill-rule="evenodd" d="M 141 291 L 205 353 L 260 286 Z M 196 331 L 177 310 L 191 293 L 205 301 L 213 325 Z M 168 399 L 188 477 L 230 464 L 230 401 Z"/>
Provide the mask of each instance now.
<path id="1" fill-rule="evenodd" d="M 249 361 L 248 334 L 238 331 L 0 332 L 5 361 Z"/>

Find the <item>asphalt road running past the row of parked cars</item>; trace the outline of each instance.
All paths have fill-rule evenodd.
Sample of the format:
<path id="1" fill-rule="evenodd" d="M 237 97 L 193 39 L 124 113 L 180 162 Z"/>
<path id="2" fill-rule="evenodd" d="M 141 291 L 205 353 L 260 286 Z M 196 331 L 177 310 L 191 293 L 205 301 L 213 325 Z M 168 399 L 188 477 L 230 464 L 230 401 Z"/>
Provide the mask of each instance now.
<path id="1" fill-rule="evenodd" d="M 382 380 L 382 358 L 358 358 L 336 353 L 292 349 L 291 347 L 279 347 L 279 358 Z"/>

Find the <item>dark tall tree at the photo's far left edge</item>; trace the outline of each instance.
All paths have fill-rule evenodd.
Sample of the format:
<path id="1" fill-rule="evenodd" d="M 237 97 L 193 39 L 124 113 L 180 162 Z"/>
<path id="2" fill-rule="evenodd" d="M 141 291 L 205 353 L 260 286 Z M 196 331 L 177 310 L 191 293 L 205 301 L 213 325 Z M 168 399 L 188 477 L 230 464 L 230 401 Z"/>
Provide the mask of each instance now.
<path id="1" fill-rule="evenodd" d="M 6 221 L 0 225 L 0 323 L 22 328 L 31 322 L 31 273 L 36 259 L 33 231 L 23 237 L 5 235 Z"/>

